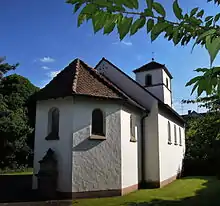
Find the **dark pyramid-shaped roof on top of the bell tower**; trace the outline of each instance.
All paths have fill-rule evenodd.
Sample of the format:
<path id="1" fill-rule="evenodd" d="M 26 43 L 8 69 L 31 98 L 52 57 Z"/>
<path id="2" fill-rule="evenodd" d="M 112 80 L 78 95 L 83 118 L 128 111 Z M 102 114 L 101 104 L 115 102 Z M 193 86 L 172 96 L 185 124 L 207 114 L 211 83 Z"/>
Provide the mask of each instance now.
<path id="1" fill-rule="evenodd" d="M 150 70 L 156 70 L 156 69 L 163 69 L 171 79 L 173 78 L 171 73 L 169 72 L 169 70 L 166 68 L 165 64 L 160 64 L 155 61 L 151 61 L 151 62 L 135 69 L 133 72 L 138 73 L 138 72 L 150 71 Z"/>

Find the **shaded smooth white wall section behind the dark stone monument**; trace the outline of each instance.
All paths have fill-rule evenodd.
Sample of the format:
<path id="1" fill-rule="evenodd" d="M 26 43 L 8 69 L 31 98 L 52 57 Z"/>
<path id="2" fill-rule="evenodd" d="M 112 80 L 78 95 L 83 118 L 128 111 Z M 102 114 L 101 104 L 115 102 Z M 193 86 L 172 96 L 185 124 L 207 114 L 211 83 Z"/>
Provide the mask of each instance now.
<path id="1" fill-rule="evenodd" d="M 57 107 L 60 111 L 59 140 L 45 140 L 48 135 L 48 111 Z M 36 108 L 34 174 L 39 171 L 38 163 L 49 148 L 55 151 L 58 160 L 58 191 L 71 192 L 72 179 L 72 124 L 73 99 L 59 98 L 38 101 Z M 33 176 L 33 189 L 37 188 L 37 178 Z"/>

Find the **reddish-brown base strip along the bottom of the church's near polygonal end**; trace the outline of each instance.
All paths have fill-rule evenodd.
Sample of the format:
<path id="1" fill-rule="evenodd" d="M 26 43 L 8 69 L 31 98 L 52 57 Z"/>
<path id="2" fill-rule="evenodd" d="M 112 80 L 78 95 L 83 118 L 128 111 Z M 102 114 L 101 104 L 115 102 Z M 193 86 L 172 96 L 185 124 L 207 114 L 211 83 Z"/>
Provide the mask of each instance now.
<path id="1" fill-rule="evenodd" d="M 82 198 L 100 198 L 100 197 L 114 197 L 126 195 L 138 189 L 138 184 L 132 185 L 122 189 L 115 190 L 100 190 L 100 191 L 86 191 L 86 192 L 59 192 L 59 195 L 65 199 L 82 199 Z"/>

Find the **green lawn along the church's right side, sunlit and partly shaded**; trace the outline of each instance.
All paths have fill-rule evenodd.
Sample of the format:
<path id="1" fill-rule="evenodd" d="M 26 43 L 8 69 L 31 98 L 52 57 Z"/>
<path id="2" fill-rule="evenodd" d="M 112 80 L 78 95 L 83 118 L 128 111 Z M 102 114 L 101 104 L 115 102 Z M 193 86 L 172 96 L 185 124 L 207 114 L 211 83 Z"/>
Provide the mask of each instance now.
<path id="1" fill-rule="evenodd" d="M 220 180 L 215 177 L 186 177 L 161 189 L 146 189 L 123 197 L 81 199 L 73 206 L 220 206 Z"/>

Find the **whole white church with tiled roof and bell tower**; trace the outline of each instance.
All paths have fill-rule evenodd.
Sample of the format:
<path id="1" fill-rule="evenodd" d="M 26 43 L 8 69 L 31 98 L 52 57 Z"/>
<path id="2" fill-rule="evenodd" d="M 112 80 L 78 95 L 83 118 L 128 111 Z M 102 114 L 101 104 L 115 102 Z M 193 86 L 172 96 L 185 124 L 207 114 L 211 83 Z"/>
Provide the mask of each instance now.
<path id="1" fill-rule="evenodd" d="M 133 72 L 135 80 L 105 58 L 95 68 L 75 59 L 37 93 L 33 189 L 48 151 L 55 189 L 72 198 L 163 187 L 181 175 L 185 123 L 172 106 L 173 77 L 154 60 Z"/>

